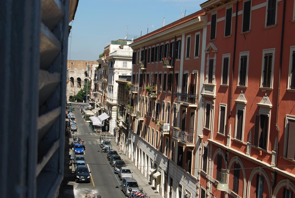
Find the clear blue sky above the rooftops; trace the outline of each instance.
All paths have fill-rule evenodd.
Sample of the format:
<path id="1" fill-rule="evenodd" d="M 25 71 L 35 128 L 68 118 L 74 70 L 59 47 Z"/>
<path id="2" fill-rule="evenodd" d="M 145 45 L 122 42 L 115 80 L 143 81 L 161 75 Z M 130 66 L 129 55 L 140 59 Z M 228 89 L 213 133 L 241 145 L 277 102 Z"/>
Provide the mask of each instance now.
<path id="1" fill-rule="evenodd" d="M 68 40 L 68 59 L 97 60 L 111 40 L 142 35 L 200 10 L 206 0 L 79 0 Z M 71 24 L 71 23 L 70 23 Z"/>

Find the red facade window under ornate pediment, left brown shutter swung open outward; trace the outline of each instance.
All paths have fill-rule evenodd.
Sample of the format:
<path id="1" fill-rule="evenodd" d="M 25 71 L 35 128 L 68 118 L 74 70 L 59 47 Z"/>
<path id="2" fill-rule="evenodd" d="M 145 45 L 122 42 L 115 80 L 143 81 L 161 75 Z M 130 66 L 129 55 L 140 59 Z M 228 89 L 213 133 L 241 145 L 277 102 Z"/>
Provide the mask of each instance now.
<path id="1" fill-rule="evenodd" d="M 268 116 L 255 115 L 253 145 L 267 150 L 268 143 Z"/>

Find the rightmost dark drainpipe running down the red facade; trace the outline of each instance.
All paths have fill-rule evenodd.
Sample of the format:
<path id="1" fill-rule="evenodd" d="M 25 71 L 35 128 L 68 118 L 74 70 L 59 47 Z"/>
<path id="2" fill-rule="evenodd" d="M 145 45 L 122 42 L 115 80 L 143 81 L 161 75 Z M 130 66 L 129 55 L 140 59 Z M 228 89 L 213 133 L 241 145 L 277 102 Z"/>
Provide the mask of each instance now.
<path id="1" fill-rule="evenodd" d="M 279 76 L 278 76 L 278 99 L 277 99 L 277 111 L 276 111 L 276 129 L 277 134 L 277 145 L 276 145 L 276 166 L 278 165 L 278 137 L 280 134 L 280 128 L 278 127 L 278 107 L 280 105 L 280 87 L 281 87 L 281 69 L 283 60 L 283 41 L 284 41 L 284 27 L 285 27 L 285 12 L 286 12 L 286 0 L 283 0 L 283 19 L 282 19 L 282 35 L 281 35 L 281 49 L 280 49 L 280 65 L 279 65 Z"/>

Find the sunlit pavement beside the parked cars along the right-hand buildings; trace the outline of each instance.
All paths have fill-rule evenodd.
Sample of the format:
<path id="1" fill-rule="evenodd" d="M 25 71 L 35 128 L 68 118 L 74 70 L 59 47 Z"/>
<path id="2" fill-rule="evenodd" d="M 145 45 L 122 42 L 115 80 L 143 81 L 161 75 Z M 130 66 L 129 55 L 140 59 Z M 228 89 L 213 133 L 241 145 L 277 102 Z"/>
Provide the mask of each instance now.
<path id="1" fill-rule="evenodd" d="M 126 163 L 127 167 L 130 168 L 133 178 L 137 181 L 137 184 L 140 186 L 140 188 L 143 188 L 143 192 L 147 193 L 148 196 L 151 198 L 162 198 L 160 194 L 156 191 L 153 190 L 153 186 L 148 184 L 148 180 L 141 174 L 141 172 L 134 166 L 132 161 L 125 156 L 125 154 L 120 155 L 122 160 Z"/>

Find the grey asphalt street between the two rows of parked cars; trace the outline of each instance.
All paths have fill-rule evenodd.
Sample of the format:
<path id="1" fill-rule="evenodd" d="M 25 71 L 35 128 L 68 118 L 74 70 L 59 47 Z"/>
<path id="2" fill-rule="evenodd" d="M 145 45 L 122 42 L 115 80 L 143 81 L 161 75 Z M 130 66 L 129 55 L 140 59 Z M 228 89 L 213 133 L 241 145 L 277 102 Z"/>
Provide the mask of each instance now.
<path id="1" fill-rule="evenodd" d="M 89 124 L 82 119 L 80 109 L 75 108 L 74 116 L 76 117 L 78 131 L 75 136 L 79 136 L 85 140 L 85 153 L 84 157 L 86 163 L 91 171 L 92 180 L 90 183 L 78 183 L 74 188 L 75 198 L 85 197 L 86 193 L 92 197 L 93 190 L 95 194 L 101 195 L 102 198 L 106 197 L 125 197 L 120 190 L 120 180 L 117 174 L 113 172 L 113 167 L 109 165 L 106 159 L 106 153 L 101 153 L 99 147 L 99 136 L 94 135 Z M 116 148 L 113 142 L 113 147 Z M 74 177 L 74 173 L 73 173 Z"/>

